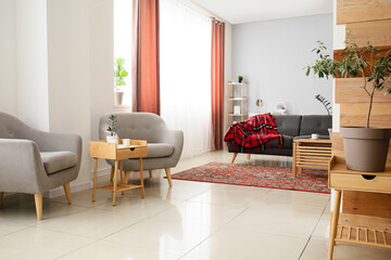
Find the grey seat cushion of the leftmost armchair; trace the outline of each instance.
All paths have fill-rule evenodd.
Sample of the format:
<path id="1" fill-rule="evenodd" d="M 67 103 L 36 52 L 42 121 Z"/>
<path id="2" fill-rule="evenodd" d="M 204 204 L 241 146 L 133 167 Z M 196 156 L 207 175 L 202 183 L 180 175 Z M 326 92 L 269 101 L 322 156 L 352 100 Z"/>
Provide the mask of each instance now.
<path id="1" fill-rule="evenodd" d="M 77 165 L 77 155 L 68 151 L 41 152 L 43 168 L 48 174 L 74 167 Z"/>

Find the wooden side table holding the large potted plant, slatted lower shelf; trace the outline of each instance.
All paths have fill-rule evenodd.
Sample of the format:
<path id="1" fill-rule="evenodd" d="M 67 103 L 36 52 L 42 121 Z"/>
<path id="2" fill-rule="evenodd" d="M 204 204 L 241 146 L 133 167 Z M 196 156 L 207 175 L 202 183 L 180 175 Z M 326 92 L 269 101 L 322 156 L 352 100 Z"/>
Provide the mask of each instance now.
<path id="1" fill-rule="evenodd" d="M 344 158 L 333 156 L 329 164 L 328 186 L 336 190 L 330 224 L 328 259 L 332 259 L 336 242 L 391 249 L 391 232 L 368 226 L 339 224 L 341 194 L 343 191 L 391 194 L 391 167 L 383 172 L 361 172 L 346 169 Z"/>

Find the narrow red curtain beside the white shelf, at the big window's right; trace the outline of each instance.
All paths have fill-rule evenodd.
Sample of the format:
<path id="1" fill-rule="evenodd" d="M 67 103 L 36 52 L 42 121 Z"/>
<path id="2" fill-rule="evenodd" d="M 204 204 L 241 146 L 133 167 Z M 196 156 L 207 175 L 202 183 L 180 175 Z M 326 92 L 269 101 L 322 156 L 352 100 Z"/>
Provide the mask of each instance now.
<path id="1" fill-rule="evenodd" d="M 224 39 L 225 24 L 212 20 L 212 151 L 223 148 Z"/>

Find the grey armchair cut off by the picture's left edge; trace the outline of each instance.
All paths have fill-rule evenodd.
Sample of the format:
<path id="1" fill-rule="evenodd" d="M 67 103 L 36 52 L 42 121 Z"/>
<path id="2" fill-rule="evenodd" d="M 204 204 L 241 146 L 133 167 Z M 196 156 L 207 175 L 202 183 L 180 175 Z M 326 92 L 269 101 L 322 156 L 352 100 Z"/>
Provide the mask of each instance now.
<path id="1" fill-rule="evenodd" d="M 37 131 L 0 112 L 0 199 L 4 192 L 35 195 L 42 219 L 42 193 L 63 185 L 72 203 L 70 182 L 77 178 L 81 138 Z"/>

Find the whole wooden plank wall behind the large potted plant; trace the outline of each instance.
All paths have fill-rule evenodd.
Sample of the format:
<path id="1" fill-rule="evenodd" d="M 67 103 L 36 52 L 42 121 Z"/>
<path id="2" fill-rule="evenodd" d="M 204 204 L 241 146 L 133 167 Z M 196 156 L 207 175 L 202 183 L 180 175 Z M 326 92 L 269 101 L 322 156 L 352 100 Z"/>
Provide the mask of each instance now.
<path id="1" fill-rule="evenodd" d="M 346 24 L 345 34 L 351 31 L 348 40 L 355 41 L 357 46 L 364 47 L 369 40 L 373 46 L 386 46 L 387 48 L 381 49 L 388 50 L 391 46 L 391 0 L 337 0 L 337 24 Z M 335 51 L 336 60 L 342 58 L 339 53 L 341 50 Z M 371 57 L 367 56 L 368 58 Z M 338 89 L 338 86 L 339 83 L 336 99 L 341 103 L 341 126 L 365 126 L 368 104 L 357 103 L 364 102 L 363 93 L 353 90 L 353 86 L 348 86 L 346 89 Z M 373 126 L 391 126 L 391 103 L 388 99 L 389 96 L 376 96 Z M 390 151 L 388 164 L 391 164 Z M 343 155 L 343 142 L 339 133 L 332 135 L 332 153 Z M 388 194 L 345 192 L 342 205 L 343 212 L 391 218 L 391 195 Z M 366 222 L 370 220 L 373 219 L 367 218 Z M 386 220 L 386 225 L 390 222 Z"/>

